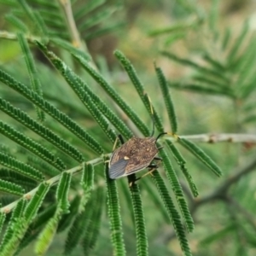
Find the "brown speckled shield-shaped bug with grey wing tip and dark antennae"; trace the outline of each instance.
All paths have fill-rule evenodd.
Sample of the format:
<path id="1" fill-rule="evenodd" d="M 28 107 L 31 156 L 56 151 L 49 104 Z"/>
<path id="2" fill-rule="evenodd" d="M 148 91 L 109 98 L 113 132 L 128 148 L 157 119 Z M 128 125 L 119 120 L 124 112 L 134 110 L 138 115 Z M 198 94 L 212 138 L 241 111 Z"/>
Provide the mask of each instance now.
<path id="1" fill-rule="evenodd" d="M 131 139 L 126 143 L 121 135 L 117 137 L 117 140 L 119 138 L 119 141 L 122 143 L 122 145 L 120 148 L 117 148 L 113 151 L 113 154 L 109 160 L 108 172 L 110 178 L 115 179 L 119 177 L 125 177 L 131 175 L 132 173 L 139 172 L 145 168 L 148 168 L 148 172 L 142 176 L 144 177 L 148 175 L 148 173 L 154 172 L 154 170 L 158 168 L 158 162 L 160 162 L 162 159 L 156 156 L 160 149 L 157 148 L 156 142 L 161 136 L 170 133 L 162 132 L 158 135 L 158 137 L 153 137 L 154 118 L 152 108 L 151 112 L 153 120 L 153 131 L 150 137 L 131 137 Z M 117 140 L 114 143 L 113 148 L 115 148 Z M 154 160 L 157 163 L 154 162 Z M 135 181 L 142 177 L 138 177 Z"/>

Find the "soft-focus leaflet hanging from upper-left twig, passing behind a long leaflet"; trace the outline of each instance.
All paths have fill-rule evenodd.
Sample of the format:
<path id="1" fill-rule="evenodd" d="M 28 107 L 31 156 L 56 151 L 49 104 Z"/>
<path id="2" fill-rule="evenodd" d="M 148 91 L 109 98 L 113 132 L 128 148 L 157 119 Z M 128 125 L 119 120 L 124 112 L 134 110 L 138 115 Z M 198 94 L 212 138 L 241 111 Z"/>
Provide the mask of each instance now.
<path id="1" fill-rule="evenodd" d="M 35 63 L 32 58 L 32 53 L 29 50 L 28 44 L 27 44 L 24 36 L 21 33 L 17 34 L 17 39 L 20 43 L 20 48 L 22 49 L 22 52 L 25 56 L 26 68 L 27 68 L 27 72 L 29 74 L 29 79 L 30 79 L 30 84 L 31 84 L 32 90 L 34 92 L 36 92 L 39 96 L 43 96 L 41 83 L 38 78 L 38 71 L 37 71 L 37 68 L 35 67 Z M 36 107 L 36 111 L 38 113 L 38 119 L 41 122 L 44 122 L 44 119 L 45 119 L 44 112 L 41 111 L 40 108 L 38 108 L 38 107 Z"/>

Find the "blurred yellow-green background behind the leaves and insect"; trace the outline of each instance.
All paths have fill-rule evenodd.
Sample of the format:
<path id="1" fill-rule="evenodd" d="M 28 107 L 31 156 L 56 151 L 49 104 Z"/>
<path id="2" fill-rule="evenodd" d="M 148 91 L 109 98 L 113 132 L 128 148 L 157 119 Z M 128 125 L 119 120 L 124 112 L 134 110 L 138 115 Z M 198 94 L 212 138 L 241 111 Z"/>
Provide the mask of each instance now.
<path id="1" fill-rule="evenodd" d="M 2 2 L 2 1 L 1 1 Z M 3 1 L 4 2 L 4 1 Z M 79 1 L 77 1 L 79 4 Z M 115 1 L 107 1 L 111 5 Z M 0 30 L 12 31 L 3 15 L 9 7 L 1 5 L 0 9 Z M 119 10 L 109 17 L 108 22 L 122 24 L 114 32 L 103 35 L 99 38 L 89 39 L 86 44 L 90 54 L 96 61 L 102 74 L 113 84 L 119 94 L 132 105 L 139 116 L 148 123 L 150 118 L 143 108 L 137 93 L 131 87 L 131 81 L 119 66 L 118 61 L 113 56 L 114 49 L 120 49 L 131 60 L 137 70 L 137 74 L 142 79 L 145 89 L 160 113 L 161 119 L 165 123 L 165 130 L 170 131 L 171 127 L 167 122 L 167 115 L 164 112 L 164 102 L 160 95 L 156 74 L 154 73 L 154 62 L 161 67 L 166 75 L 166 79 L 172 81 L 186 82 L 195 75 L 196 71 L 192 67 L 181 65 L 176 61 L 171 61 L 160 51 L 170 51 L 184 59 L 196 61 L 202 66 L 205 61 L 202 56 L 208 53 L 213 55 L 220 62 L 226 60 L 227 50 L 221 50 L 224 42 L 225 32 L 230 29 L 230 48 L 235 44 L 236 38 L 241 33 L 245 21 L 248 22 L 249 31 L 244 38 L 245 44 L 241 50 L 247 47 L 249 38 L 253 38 L 256 28 L 256 3 L 253 0 L 226 0 L 226 1 L 124 1 L 120 2 Z M 41 75 L 44 77 L 43 88 L 46 97 L 51 99 L 55 95 L 55 89 L 49 88 L 45 83 L 47 73 L 43 66 L 40 55 L 34 53 L 38 59 Z M 63 54 L 64 58 L 68 55 Z M 18 75 L 20 79 L 26 81 L 26 71 L 20 63 L 22 55 L 20 47 L 15 41 L 0 38 L 0 65 L 10 73 Z M 47 69 L 47 68 L 46 68 Z M 254 68 L 255 69 L 255 68 Z M 44 72 L 45 71 L 45 72 Z M 233 77 L 232 77 L 233 79 Z M 61 79 L 60 79 L 61 84 Z M 61 85 L 62 86 L 62 85 Z M 65 85 L 63 85 L 65 86 Z M 232 84 L 230 84 L 230 87 Z M 2 85 L 1 85 L 2 87 Z M 51 92 L 52 90 L 52 92 Z M 24 102 L 19 102 L 15 94 L 10 95 L 5 89 L 0 93 L 8 96 L 15 104 L 23 109 L 29 109 Z M 67 90 L 61 98 L 61 102 L 55 102 L 60 108 L 65 109 L 65 102 L 68 102 Z M 99 90 L 99 93 L 101 91 Z M 211 93 L 198 93 L 189 90 L 171 89 L 172 100 L 176 108 L 179 135 L 196 135 L 201 133 L 254 133 L 255 120 L 245 122 L 244 116 L 247 110 L 244 106 L 252 106 L 255 109 L 255 91 L 252 96 L 238 106 L 236 101 L 225 95 L 213 95 Z M 105 96 L 102 95 L 104 98 Z M 107 98 L 108 101 L 108 98 Z M 78 103 L 78 109 L 82 105 Z M 80 105 L 79 105 L 80 104 Z M 66 112 L 77 119 L 81 125 L 85 125 L 82 113 L 73 113 L 66 105 Z M 69 112 L 70 111 L 70 112 Z M 86 112 L 86 111 L 85 111 Z M 255 112 L 254 112 L 255 113 Z M 7 119 L 2 116 L 1 119 Z M 88 122 L 86 122 L 88 125 Z M 151 126 L 150 126 L 151 127 Z M 91 120 L 91 131 L 95 128 Z M 102 137 L 100 131 L 92 131 L 98 137 Z M 4 138 L 1 137 L 1 139 Z M 214 177 L 210 172 L 206 172 L 193 156 L 181 151 L 186 157 L 189 172 L 195 179 L 195 183 L 200 191 L 199 198 L 210 195 L 213 191 L 224 183 L 232 174 L 247 162 L 255 159 L 254 145 L 247 143 L 201 143 L 207 154 L 218 163 L 224 172 L 223 177 Z M 106 143 L 105 148 L 111 152 L 112 145 Z M 173 164 L 176 168 L 175 163 Z M 163 172 L 163 171 L 161 171 Z M 183 183 L 183 175 L 178 172 L 180 181 Z M 148 178 L 148 177 L 146 177 Z M 143 180 L 140 182 L 143 206 L 148 228 L 149 255 L 182 255 L 179 244 L 173 236 L 172 224 L 166 224 L 160 212 L 157 211 L 152 198 L 143 188 Z M 119 191 L 123 189 L 123 184 L 118 182 Z M 256 255 L 255 239 L 255 199 L 256 199 L 256 178 L 251 172 L 244 175 L 233 184 L 228 195 L 239 202 L 228 204 L 226 201 L 207 201 L 205 205 L 197 208 L 194 212 L 195 231 L 189 234 L 189 245 L 196 256 L 225 256 L 225 255 Z M 152 187 L 152 189 L 155 189 Z M 121 213 L 124 225 L 125 244 L 127 255 L 136 254 L 136 241 L 131 219 L 129 204 L 125 201 L 125 195 L 120 193 Z M 188 195 L 189 198 L 189 195 Z M 192 201 L 189 201 L 193 205 Z M 254 226 L 250 221 L 254 223 Z M 46 255 L 61 255 L 64 237 L 67 234 L 58 234 L 55 241 L 49 248 Z M 108 218 L 104 212 L 102 215 L 102 226 L 100 236 L 96 243 L 96 248 L 91 255 L 112 255 L 111 242 L 109 238 Z M 104 252 L 102 254 L 102 252 Z M 22 251 L 20 255 L 33 255 L 32 245 Z M 72 255 L 82 255 L 78 247 Z"/>

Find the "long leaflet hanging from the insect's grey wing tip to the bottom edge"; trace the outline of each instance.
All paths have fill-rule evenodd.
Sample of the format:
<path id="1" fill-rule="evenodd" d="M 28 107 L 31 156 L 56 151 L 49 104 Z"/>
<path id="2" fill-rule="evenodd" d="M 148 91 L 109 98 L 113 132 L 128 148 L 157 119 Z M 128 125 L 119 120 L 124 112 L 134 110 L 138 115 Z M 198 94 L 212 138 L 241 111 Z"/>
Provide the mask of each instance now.
<path id="1" fill-rule="evenodd" d="M 107 183 L 107 207 L 113 255 L 122 256 L 125 255 L 125 241 L 120 215 L 119 196 L 115 180 L 108 177 L 108 163 L 105 164 L 105 178 Z"/>

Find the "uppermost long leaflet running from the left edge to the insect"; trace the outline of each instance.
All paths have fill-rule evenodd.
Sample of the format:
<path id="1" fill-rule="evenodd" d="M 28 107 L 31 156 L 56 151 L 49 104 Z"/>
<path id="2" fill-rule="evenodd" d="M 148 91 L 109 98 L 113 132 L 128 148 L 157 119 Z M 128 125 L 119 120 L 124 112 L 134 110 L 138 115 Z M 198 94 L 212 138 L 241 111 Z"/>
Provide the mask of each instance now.
<path id="1" fill-rule="evenodd" d="M 49 115 L 51 115 L 54 119 L 60 122 L 61 125 L 64 125 L 69 131 L 73 132 L 73 134 L 79 137 L 97 154 L 102 154 L 102 147 L 100 146 L 100 144 L 97 143 L 93 137 L 90 137 L 90 135 L 86 131 L 84 131 L 83 128 L 81 128 L 77 123 L 75 123 L 72 119 L 70 119 L 67 116 L 67 114 L 62 113 L 57 108 L 55 108 L 52 104 L 44 101 L 44 99 L 38 96 L 38 94 L 34 93 L 32 90 L 29 90 L 24 84 L 17 82 L 15 79 L 10 77 L 7 73 L 3 72 L 3 70 L 1 69 L 0 69 L 0 81 L 2 81 L 3 84 L 7 84 L 10 88 L 18 91 L 21 95 L 25 96 L 33 104 L 37 105 L 39 108 L 44 110 L 45 113 L 49 113 Z M 70 148 L 70 147 L 71 145 L 66 143 L 65 147 L 62 147 L 62 150 L 65 150 L 65 148 Z M 68 154 L 71 154 L 71 155 L 75 154 L 76 150 L 73 149 L 72 151 L 69 152 Z M 76 154 L 78 154 L 78 152 Z M 83 156 L 81 154 L 79 154 L 78 156 L 79 156 L 79 162 L 81 162 L 83 160 Z"/>

